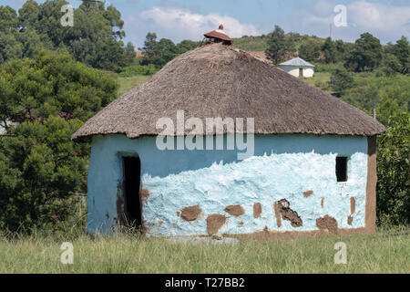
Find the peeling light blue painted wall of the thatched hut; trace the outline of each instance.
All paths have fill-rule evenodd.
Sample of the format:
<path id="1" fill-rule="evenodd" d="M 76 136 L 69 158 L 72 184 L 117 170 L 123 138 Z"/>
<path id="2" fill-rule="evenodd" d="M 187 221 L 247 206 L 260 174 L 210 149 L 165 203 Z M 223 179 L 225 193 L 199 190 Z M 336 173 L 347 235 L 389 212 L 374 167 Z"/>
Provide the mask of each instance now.
<path id="1" fill-rule="evenodd" d="M 226 137 L 225 137 L 226 138 Z M 226 214 L 220 234 L 269 230 L 316 230 L 316 219 L 329 214 L 339 228 L 364 227 L 367 138 L 304 134 L 256 135 L 254 156 L 238 161 L 238 151 L 159 151 L 155 137 L 129 140 L 125 135 L 96 136 L 88 172 L 87 231 L 110 233 L 116 226 L 121 195 L 123 156 L 141 160 L 142 188 L 149 190 L 143 219 L 149 235 L 206 235 L 206 218 Z M 348 156 L 348 181 L 337 183 L 336 156 Z M 303 192 L 313 191 L 305 198 Z M 350 198 L 355 214 L 350 214 Z M 286 199 L 302 217 L 301 227 L 282 221 L 278 227 L 273 203 Z M 323 207 L 321 202 L 324 202 Z M 253 203 L 261 203 L 261 217 L 253 218 Z M 177 215 L 199 204 L 200 219 L 186 222 Z M 223 210 L 241 204 L 245 214 Z M 354 218 L 352 225 L 347 217 Z M 241 224 L 240 224 L 241 223 Z"/>

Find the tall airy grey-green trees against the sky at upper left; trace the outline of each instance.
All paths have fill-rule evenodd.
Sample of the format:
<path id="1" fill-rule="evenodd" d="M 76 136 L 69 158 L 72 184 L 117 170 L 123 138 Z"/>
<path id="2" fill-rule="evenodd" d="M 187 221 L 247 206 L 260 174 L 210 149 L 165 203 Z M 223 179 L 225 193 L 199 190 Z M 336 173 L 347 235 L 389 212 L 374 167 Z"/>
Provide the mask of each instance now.
<path id="1" fill-rule="evenodd" d="M 60 20 L 61 7 L 67 4 L 66 0 L 40 5 L 27 0 L 19 16 L 9 6 L 0 6 L 0 63 L 31 57 L 36 47 L 67 48 L 78 61 L 94 68 L 116 70 L 134 61 L 130 47 L 122 42 L 124 21 L 113 5 L 106 8 L 103 2 L 84 1 L 74 10 L 74 26 L 66 27 Z"/>

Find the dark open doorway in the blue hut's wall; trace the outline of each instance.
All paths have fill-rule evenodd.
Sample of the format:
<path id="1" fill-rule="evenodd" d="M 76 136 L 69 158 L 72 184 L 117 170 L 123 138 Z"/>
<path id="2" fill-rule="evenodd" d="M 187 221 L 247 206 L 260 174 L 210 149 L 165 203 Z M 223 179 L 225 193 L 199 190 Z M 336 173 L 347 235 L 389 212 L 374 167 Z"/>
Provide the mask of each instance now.
<path id="1" fill-rule="evenodd" d="M 134 229 L 141 226 L 141 200 L 139 184 L 141 177 L 141 161 L 139 157 L 123 157 L 124 171 L 124 215 L 125 224 Z"/>

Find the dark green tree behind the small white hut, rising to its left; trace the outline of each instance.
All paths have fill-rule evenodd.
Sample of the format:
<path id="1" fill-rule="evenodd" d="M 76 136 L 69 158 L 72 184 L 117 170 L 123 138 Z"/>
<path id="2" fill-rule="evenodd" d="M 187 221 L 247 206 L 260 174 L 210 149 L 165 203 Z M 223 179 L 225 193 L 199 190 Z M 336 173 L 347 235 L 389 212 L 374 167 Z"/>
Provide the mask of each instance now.
<path id="1" fill-rule="evenodd" d="M 266 55 L 272 59 L 273 63 L 284 60 L 288 52 L 294 51 L 292 41 L 286 39 L 281 26 L 275 26 L 273 32 L 268 36 L 267 44 Z"/>

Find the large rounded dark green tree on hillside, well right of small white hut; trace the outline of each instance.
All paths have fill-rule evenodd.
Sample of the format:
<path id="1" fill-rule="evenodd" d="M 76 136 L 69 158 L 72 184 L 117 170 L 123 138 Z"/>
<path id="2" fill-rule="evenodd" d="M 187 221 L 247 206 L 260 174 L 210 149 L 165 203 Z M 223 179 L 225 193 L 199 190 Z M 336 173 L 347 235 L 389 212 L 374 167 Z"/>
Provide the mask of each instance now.
<path id="1" fill-rule="evenodd" d="M 355 41 L 345 67 L 355 72 L 372 71 L 382 59 L 380 40 L 369 33 L 364 33 Z"/>

